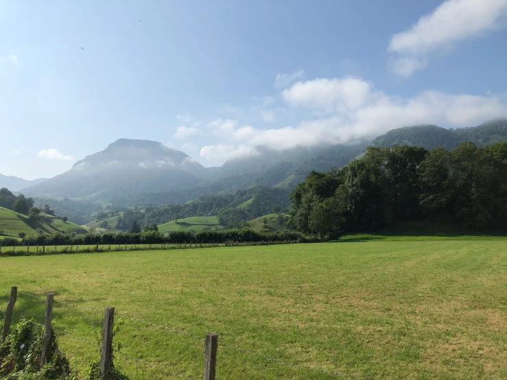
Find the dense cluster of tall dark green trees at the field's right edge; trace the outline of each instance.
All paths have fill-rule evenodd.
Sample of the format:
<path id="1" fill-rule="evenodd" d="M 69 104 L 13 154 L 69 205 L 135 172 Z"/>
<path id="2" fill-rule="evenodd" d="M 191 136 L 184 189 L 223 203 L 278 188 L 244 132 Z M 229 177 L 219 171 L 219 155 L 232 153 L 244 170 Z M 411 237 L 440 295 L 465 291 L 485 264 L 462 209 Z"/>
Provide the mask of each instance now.
<path id="1" fill-rule="evenodd" d="M 321 237 L 417 219 L 499 228 L 507 223 L 507 143 L 369 147 L 341 170 L 311 172 L 291 199 L 292 228 Z"/>

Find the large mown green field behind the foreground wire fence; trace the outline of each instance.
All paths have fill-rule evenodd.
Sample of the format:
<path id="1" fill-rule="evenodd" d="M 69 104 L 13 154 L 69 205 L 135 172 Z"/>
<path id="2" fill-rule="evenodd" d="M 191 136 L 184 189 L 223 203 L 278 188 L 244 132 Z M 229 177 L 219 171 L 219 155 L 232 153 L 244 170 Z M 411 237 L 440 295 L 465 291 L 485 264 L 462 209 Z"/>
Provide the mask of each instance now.
<path id="1" fill-rule="evenodd" d="M 106 306 L 123 326 L 116 364 L 131 379 L 202 377 L 202 336 L 219 333 L 217 379 L 506 379 L 506 240 L 364 241 L 0 258 L 9 289 L 56 304 L 72 357 L 97 357 Z M 43 300 L 19 295 L 15 320 L 43 321 Z M 226 346 L 224 346 L 226 345 Z M 73 364 L 84 369 L 81 361 Z"/>

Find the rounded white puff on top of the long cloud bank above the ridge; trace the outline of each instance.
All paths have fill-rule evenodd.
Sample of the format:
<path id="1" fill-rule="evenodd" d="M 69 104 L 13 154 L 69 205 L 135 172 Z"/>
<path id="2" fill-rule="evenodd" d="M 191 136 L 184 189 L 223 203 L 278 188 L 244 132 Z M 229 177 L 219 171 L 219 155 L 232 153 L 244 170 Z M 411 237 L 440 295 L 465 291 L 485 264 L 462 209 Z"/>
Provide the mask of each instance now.
<path id="1" fill-rule="evenodd" d="M 298 82 L 283 90 L 282 97 L 293 107 L 303 106 L 318 112 L 343 112 L 357 109 L 372 96 L 370 84 L 360 78 L 316 79 Z"/>

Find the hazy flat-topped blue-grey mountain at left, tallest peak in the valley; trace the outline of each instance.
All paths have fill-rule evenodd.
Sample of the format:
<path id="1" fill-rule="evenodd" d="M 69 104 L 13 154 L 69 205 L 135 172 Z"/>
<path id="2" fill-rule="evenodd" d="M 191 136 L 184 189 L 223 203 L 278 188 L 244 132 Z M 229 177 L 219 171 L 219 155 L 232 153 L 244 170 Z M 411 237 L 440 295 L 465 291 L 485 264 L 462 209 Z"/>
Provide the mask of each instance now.
<path id="1" fill-rule="evenodd" d="M 53 198 L 107 200 L 112 194 L 195 187 L 207 176 L 209 171 L 200 163 L 162 143 L 119 139 L 26 192 Z"/>

